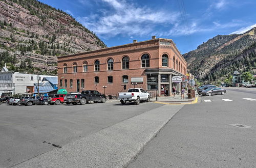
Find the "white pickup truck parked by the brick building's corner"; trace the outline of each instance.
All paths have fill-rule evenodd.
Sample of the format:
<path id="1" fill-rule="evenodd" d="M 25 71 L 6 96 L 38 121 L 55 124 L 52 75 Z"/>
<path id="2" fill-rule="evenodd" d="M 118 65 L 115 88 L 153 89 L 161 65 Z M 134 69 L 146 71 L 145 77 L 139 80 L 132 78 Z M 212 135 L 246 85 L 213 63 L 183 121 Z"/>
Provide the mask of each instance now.
<path id="1" fill-rule="evenodd" d="M 125 104 L 126 101 L 135 101 L 135 104 L 138 105 L 140 104 L 140 101 L 150 102 L 150 94 L 147 93 L 144 89 L 133 88 L 128 89 L 127 92 L 118 93 L 118 99 L 120 99 L 122 104 Z"/>

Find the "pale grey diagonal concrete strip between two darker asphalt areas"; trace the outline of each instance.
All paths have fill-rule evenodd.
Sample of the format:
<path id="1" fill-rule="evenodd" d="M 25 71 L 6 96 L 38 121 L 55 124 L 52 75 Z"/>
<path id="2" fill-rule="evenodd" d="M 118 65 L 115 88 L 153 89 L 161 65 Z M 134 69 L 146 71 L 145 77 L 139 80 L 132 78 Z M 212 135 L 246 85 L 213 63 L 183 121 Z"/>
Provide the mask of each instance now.
<path id="1" fill-rule="evenodd" d="M 14 167 L 126 166 L 182 107 L 160 106 Z"/>

